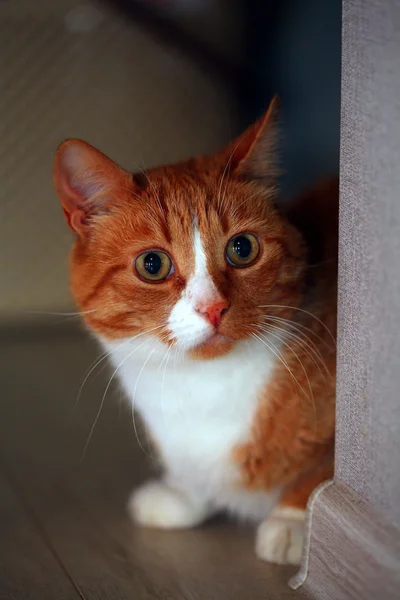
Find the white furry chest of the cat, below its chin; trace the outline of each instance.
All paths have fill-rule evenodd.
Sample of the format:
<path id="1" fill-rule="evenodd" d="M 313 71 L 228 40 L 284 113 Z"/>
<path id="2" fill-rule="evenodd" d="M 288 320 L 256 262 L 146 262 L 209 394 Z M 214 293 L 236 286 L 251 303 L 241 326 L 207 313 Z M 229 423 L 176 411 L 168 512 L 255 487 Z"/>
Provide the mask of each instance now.
<path id="1" fill-rule="evenodd" d="M 231 453 L 251 436 L 274 368 L 271 355 L 254 342 L 210 361 L 177 361 L 153 340 L 136 350 L 127 346 L 113 350 L 113 363 L 170 476 L 221 507 L 237 512 L 245 501 L 264 511 L 264 493 L 244 498 L 248 493 L 239 491 Z M 244 512 L 257 512 L 257 506 Z"/>

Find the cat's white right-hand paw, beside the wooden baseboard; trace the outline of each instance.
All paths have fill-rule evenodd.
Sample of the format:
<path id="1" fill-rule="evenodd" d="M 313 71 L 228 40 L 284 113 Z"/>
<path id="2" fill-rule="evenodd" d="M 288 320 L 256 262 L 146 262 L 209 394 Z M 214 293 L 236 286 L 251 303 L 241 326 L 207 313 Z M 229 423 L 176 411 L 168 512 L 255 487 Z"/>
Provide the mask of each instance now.
<path id="1" fill-rule="evenodd" d="M 299 565 L 304 539 L 304 510 L 277 508 L 259 525 L 256 554 L 279 565 Z"/>

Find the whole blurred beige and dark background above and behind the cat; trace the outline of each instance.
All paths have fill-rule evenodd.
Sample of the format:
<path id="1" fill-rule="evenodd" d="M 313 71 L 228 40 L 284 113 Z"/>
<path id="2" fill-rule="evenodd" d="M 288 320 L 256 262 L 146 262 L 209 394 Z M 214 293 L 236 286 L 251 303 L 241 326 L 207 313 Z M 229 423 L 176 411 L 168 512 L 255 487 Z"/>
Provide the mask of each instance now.
<path id="1" fill-rule="evenodd" d="M 283 103 L 282 197 L 338 170 L 340 0 L 1 0 L 0 325 L 73 310 L 60 141 L 126 169 L 210 152 Z"/>

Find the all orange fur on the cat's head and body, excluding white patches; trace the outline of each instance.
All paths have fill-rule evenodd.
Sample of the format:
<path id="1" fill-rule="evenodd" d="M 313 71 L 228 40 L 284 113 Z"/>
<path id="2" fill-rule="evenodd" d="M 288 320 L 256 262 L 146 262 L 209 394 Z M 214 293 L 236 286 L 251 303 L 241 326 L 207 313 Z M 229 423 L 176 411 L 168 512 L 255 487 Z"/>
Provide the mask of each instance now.
<path id="1" fill-rule="evenodd" d="M 135 176 L 83 142 L 66 142 L 56 156 L 55 185 L 77 234 L 72 291 L 87 325 L 103 337 L 126 338 L 164 323 L 154 335 L 174 344 L 165 321 L 193 272 L 193 214 L 210 275 L 230 309 L 220 343 L 204 343 L 191 357 L 222 355 L 251 334 L 262 344 L 263 327 L 278 339 L 284 321 L 277 318 L 290 319 L 287 331 L 297 338 L 284 337 L 252 438 L 232 457 L 241 485 L 284 484 L 281 503 L 303 507 L 333 464 L 337 183 L 318 186 L 290 210 L 277 209 L 275 104 L 220 153 Z M 69 179 L 71 144 L 83 166 Z M 243 231 L 258 236 L 260 255 L 251 267 L 234 269 L 224 248 Z M 134 272 L 135 257 L 149 248 L 165 250 L 175 265 L 159 284 Z"/>

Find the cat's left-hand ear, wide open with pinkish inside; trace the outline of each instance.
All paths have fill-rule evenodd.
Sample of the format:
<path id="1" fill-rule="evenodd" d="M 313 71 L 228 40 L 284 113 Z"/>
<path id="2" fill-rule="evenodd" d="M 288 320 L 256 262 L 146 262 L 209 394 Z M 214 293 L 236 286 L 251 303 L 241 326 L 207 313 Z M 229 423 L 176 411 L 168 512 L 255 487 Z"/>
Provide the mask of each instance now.
<path id="1" fill-rule="evenodd" d="M 82 140 L 71 139 L 57 149 L 53 179 L 68 225 L 79 236 L 93 218 L 107 213 L 118 190 L 132 178 L 112 160 Z"/>

